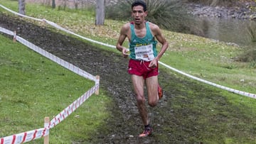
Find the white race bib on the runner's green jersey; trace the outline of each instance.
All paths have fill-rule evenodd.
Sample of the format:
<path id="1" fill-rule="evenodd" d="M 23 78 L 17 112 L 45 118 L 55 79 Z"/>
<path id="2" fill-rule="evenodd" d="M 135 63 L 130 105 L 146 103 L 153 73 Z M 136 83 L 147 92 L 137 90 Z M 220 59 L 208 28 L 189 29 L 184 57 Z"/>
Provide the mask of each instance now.
<path id="1" fill-rule="evenodd" d="M 154 60 L 153 44 L 142 45 L 134 48 L 135 58 L 146 62 Z"/>

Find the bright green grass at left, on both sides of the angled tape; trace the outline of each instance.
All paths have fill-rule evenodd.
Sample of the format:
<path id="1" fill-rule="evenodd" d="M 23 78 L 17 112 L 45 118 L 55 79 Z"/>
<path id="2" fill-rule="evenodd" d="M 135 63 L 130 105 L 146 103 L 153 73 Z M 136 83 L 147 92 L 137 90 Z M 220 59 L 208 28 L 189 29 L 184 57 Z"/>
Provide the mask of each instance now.
<path id="1" fill-rule="evenodd" d="M 43 128 L 44 117 L 53 118 L 95 84 L 3 35 L 0 40 L 0 137 Z M 109 103 L 105 94 L 93 94 L 50 130 L 50 142 L 87 140 L 107 118 Z"/>

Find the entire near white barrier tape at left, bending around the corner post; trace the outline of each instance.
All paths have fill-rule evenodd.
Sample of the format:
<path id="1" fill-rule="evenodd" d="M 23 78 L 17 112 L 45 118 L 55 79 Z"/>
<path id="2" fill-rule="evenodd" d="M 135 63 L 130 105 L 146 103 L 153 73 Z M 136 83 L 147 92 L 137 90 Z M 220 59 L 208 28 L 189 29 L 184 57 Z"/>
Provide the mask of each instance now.
<path id="1" fill-rule="evenodd" d="M 5 28 L 1 28 L 0 27 L 0 31 L 2 33 L 6 33 L 9 35 L 15 35 L 14 32 L 6 30 Z M 16 35 L 15 35 L 16 36 Z M 53 123 L 53 125 L 50 125 L 50 123 L 47 124 L 45 123 L 45 128 L 40 128 L 37 130 L 33 130 L 33 131 L 27 131 L 24 133 L 18 133 L 15 135 L 10 135 L 4 138 L 0 139 L 0 144 L 9 144 L 9 143 L 14 143 L 14 144 L 18 144 L 18 143 L 26 143 L 28 141 L 31 140 L 36 140 L 38 138 L 42 138 L 43 136 L 46 136 L 49 134 L 49 128 L 53 128 L 54 126 L 56 126 L 58 123 L 60 123 L 61 121 L 63 121 L 65 118 L 67 118 L 70 113 L 73 113 L 73 111 L 75 111 L 75 109 L 78 109 L 78 107 L 85 102 L 92 94 L 95 93 L 96 89 L 99 88 L 99 84 L 100 84 L 100 79 L 96 79 L 95 76 L 92 76 L 92 74 L 89 74 L 83 70 L 80 70 L 80 68 L 75 67 L 75 65 L 70 64 L 69 62 L 65 62 L 64 60 L 60 59 L 59 57 L 56 57 L 55 55 L 52 55 L 50 52 L 47 52 L 46 50 L 43 50 L 41 48 L 39 48 L 36 45 L 33 45 L 33 43 L 29 43 L 27 40 L 24 40 L 23 38 L 16 36 L 16 39 L 23 43 L 23 45 L 26 45 L 28 48 L 31 48 L 32 50 L 40 53 L 41 55 L 48 57 L 50 60 L 53 60 L 54 62 L 57 62 L 59 65 L 62 65 L 63 67 L 67 68 L 68 70 L 71 70 L 77 74 L 80 74 L 82 77 L 91 79 L 93 81 L 95 81 L 95 86 L 92 87 L 89 91 L 87 91 L 85 94 L 83 94 L 82 96 L 80 96 L 80 98 L 78 98 L 76 101 L 73 102 L 73 104 L 70 104 L 70 106 L 68 106 L 68 108 L 64 109 L 58 116 L 56 116 L 55 118 L 53 118 L 52 121 L 50 121 L 50 123 Z"/>

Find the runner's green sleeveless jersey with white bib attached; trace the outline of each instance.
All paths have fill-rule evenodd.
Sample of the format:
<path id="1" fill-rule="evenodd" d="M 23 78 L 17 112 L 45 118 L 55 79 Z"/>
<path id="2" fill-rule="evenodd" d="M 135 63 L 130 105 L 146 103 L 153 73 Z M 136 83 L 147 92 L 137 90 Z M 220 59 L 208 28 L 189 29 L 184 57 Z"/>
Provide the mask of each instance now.
<path id="1" fill-rule="evenodd" d="M 131 28 L 131 41 L 129 42 L 129 57 L 132 60 L 144 60 L 149 62 L 154 59 L 157 55 L 156 44 L 157 41 L 151 33 L 149 28 L 149 22 L 146 21 L 146 35 L 144 38 L 139 38 L 135 34 L 134 24 L 130 23 Z"/>

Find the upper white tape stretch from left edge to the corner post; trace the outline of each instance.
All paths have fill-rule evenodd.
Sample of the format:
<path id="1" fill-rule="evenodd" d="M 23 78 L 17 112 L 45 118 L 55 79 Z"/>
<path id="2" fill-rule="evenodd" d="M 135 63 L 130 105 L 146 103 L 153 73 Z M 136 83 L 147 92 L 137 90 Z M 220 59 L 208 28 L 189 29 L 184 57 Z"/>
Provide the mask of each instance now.
<path id="1" fill-rule="evenodd" d="M 14 32 L 9 31 L 5 28 L 0 27 L 0 31 L 3 33 L 7 33 L 9 35 L 15 35 Z M 84 70 L 81 70 L 79 67 L 76 67 L 75 65 L 70 64 L 69 62 L 66 62 L 65 60 L 62 60 L 59 57 L 56 57 L 55 55 L 51 54 L 50 52 L 47 52 L 46 50 L 39 48 L 36 45 L 33 45 L 33 43 L 28 42 L 27 40 L 19 37 L 18 35 L 16 35 L 16 40 L 18 40 L 23 45 L 26 45 L 31 50 L 34 50 L 34 51 L 38 52 L 39 54 L 47 57 L 48 59 L 53 60 L 53 62 L 58 63 L 58 65 L 61 65 L 61 66 L 65 67 L 66 69 L 68 69 L 72 72 L 75 72 L 76 74 L 79 74 L 82 77 L 85 77 L 85 78 L 90 79 L 95 82 L 97 81 L 96 77 L 93 76 L 92 74 L 85 72 Z"/>

